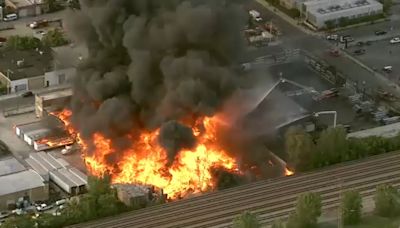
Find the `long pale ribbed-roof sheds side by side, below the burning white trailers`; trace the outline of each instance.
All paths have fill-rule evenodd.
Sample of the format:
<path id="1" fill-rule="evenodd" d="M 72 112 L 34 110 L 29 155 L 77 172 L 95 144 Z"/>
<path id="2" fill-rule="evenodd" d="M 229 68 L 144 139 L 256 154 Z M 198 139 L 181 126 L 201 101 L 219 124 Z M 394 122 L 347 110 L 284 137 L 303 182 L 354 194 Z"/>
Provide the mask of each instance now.
<path id="1" fill-rule="evenodd" d="M 87 176 L 62 158 L 45 152 L 31 153 L 25 160 L 43 179 L 54 182 L 71 195 L 86 192 Z"/>

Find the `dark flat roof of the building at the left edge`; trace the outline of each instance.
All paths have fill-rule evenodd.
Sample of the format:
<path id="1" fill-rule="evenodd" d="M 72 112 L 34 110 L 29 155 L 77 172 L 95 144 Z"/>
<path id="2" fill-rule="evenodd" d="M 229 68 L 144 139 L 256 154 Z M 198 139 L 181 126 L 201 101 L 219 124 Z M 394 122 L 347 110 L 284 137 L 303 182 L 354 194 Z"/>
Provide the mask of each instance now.
<path id="1" fill-rule="evenodd" d="M 4 50 L 0 54 L 0 71 L 11 81 L 42 76 L 53 71 L 53 65 L 51 49 Z"/>

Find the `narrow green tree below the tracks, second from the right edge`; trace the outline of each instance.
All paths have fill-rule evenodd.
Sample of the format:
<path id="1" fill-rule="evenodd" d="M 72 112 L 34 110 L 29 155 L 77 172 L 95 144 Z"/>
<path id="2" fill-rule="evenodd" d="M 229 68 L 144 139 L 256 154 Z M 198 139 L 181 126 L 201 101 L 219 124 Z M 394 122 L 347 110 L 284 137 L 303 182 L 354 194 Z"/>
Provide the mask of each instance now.
<path id="1" fill-rule="evenodd" d="M 341 213 L 345 225 L 358 224 L 361 221 L 362 198 L 357 191 L 347 191 L 343 194 Z"/>

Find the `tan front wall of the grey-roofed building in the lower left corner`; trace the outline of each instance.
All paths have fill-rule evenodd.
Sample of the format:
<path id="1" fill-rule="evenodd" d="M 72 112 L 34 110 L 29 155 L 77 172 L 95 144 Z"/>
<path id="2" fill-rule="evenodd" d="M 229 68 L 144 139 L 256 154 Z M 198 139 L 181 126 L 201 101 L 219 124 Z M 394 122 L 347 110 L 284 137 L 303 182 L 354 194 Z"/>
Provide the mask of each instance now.
<path id="1" fill-rule="evenodd" d="M 18 198 L 26 196 L 26 195 L 29 196 L 29 199 L 32 202 L 48 200 L 49 199 L 49 185 L 45 184 L 45 186 L 43 186 L 43 187 L 38 187 L 38 188 L 21 191 L 21 192 L 14 192 L 12 194 L 0 196 L 0 210 L 6 210 L 7 204 L 15 203 L 18 200 Z"/>

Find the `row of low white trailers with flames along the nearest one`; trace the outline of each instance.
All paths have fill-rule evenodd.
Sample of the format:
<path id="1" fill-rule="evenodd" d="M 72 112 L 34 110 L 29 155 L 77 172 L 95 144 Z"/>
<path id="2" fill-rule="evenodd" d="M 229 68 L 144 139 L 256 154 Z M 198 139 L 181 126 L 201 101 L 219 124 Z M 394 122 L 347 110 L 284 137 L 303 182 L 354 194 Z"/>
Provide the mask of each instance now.
<path id="1" fill-rule="evenodd" d="M 65 131 L 64 124 L 54 116 L 45 120 L 15 126 L 15 134 L 36 151 L 71 145 L 75 140 Z"/>

